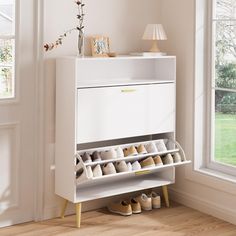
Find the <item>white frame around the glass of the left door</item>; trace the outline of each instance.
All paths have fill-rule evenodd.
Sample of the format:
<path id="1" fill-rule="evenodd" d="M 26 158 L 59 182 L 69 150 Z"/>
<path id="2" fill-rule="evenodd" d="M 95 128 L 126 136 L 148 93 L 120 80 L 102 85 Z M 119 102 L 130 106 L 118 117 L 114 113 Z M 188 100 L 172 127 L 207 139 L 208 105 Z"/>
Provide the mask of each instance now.
<path id="1" fill-rule="evenodd" d="M 17 88 L 17 80 L 18 77 L 18 69 L 17 69 L 17 48 L 18 48 L 18 38 L 19 38 L 19 9 L 20 9 L 20 3 L 19 1 L 14 1 L 14 14 L 13 14 L 13 32 L 14 34 L 9 35 L 0 35 L 0 39 L 5 40 L 14 40 L 14 44 L 12 45 L 12 56 L 13 61 L 11 64 L 12 68 L 12 96 L 9 97 L 0 97 L 0 104 L 2 103 L 14 103 L 18 102 L 18 88 Z M 4 64 L 0 64 L 0 66 L 5 66 Z"/>

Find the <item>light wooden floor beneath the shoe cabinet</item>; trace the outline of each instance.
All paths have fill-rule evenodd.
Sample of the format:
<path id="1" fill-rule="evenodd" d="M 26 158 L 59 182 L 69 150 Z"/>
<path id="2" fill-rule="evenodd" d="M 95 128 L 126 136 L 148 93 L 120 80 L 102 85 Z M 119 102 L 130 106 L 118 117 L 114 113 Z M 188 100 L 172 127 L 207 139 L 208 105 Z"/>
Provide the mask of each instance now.
<path id="1" fill-rule="evenodd" d="M 0 229 L 0 235 L 19 236 L 236 236 L 236 226 L 178 204 L 139 215 L 123 217 L 106 209 L 75 216 Z"/>

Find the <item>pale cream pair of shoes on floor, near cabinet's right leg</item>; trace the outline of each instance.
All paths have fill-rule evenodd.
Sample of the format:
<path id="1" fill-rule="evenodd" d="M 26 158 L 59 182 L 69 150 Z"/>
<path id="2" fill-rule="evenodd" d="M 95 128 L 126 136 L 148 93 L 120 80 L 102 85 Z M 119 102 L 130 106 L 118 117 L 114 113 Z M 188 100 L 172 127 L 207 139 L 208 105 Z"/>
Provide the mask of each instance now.
<path id="1" fill-rule="evenodd" d="M 148 195 L 142 193 L 135 200 L 140 203 L 142 210 L 145 211 L 161 208 L 161 197 L 154 191 Z"/>

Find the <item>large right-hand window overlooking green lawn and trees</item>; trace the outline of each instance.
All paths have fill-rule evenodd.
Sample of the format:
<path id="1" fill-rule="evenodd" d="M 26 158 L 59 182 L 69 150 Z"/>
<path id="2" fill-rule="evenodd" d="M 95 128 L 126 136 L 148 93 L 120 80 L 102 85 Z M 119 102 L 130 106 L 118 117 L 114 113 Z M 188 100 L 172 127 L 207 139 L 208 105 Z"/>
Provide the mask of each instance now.
<path id="1" fill-rule="evenodd" d="M 209 76 L 210 160 L 208 165 L 235 174 L 236 167 L 236 0 L 211 0 Z"/>

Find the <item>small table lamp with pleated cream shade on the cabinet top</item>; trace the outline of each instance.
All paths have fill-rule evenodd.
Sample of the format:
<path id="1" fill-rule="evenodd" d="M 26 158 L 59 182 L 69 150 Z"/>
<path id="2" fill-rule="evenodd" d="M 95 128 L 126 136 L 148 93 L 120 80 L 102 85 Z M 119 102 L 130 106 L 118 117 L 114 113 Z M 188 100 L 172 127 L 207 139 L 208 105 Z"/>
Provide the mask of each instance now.
<path id="1" fill-rule="evenodd" d="M 157 40 L 167 40 L 162 24 L 148 24 L 143 34 L 143 40 L 153 41 L 150 52 L 160 52 L 160 49 L 157 46 Z"/>

